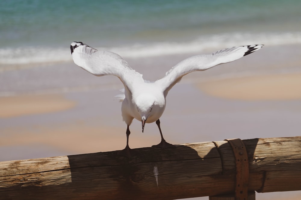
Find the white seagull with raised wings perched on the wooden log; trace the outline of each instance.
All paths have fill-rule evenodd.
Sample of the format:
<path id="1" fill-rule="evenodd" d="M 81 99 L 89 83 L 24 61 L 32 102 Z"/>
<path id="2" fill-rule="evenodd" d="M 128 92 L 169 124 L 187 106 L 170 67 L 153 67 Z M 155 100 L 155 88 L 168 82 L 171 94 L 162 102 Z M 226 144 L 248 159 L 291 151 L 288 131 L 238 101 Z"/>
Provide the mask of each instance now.
<path id="1" fill-rule="evenodd" d="M 126 123 L 126 147 L 118 155 L 132 157 L 137 151 L 129 148 L 129 126 L 133 119 L 141 121 L 142 133 L 145 123 L 156 122 L 161 142 L 152 147 L 174 148 L 166 142 L 160 128 L 160 117 L 166 106 L 166 96 L 169 90 L 179 82 L 183 76 L 194 71 L 203 71 L 219 64 L 228 63 L 253 53 L 263 45 L 237 46 L 222 49 L 208 55 L 195 55 L 187 58 L 155 82 L 142 78 L 142 74 L 133 70 L 129 64 L 118 54 L 109 51 L 98 51 L 85 43 L 72 42 L 70 45 L 73 61 L 82 69 L 95 76 L 117 76 L 124 85 L 124 96 L 121 105 L 121 115 Z"/>

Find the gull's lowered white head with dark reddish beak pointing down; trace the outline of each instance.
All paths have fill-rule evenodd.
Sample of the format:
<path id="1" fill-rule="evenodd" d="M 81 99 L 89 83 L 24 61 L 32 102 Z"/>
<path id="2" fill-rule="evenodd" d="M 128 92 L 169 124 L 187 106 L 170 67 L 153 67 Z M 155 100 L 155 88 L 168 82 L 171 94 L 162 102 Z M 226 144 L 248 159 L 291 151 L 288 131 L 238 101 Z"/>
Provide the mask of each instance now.
<path id="1" fill-rule="evenodd" d="M 142 133 L 144 130 L 144 125 L 147 121 L 147 118 L 151 117 L 155 113 L 156 105 L 155 98 L 149 94 L 141 94 L 136 99 L 136 106 L 138 113 L 141 117 L 142 122 Z"/>

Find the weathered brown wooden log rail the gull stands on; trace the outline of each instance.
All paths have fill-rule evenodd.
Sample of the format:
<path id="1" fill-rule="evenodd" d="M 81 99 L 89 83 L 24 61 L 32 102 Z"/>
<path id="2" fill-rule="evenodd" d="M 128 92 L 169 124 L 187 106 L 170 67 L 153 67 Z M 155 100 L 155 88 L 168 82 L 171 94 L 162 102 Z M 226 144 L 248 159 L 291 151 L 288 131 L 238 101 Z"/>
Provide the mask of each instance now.
<path id="1" fill-rule="evenodd" d="M 243 140 L 248 190 L 301 190 L 301 137 Z M 227 141 L 0 162 L 0 199 L 182 199 L 233 194 Z"/>

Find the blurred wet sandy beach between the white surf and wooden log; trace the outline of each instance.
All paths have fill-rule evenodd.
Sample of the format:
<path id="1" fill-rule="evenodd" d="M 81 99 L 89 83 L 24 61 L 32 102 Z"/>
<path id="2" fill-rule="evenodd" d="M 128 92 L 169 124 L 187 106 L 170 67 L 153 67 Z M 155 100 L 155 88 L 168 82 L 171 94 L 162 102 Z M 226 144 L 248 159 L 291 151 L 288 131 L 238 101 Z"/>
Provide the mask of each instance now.
<path id="1" fill-rule="evenodd" d="M 290 53 L 297 46 L 286 46 L 286 55 L 291 57 L 282 60 L 272 59 L 276 47 L 264 48 L 253 57 L 188 75 L 175 85 L 160 119 L 166 141 L 182 144 L 299 135 L 301 57 Z M 187 56 L 129 59 L 129 63 L 133 68 L 143 66 L 137 71 L 154 80 Z M 48 76 L 40 76 L 45 71 Z M 20 74 L 27 79 L 13 78 Z M 72 63 L 5 71 L 0 76 L 0 150 L 5 152 L 0 161 L 124 148 L 126 124 L 121 103 L 113 101 L 122 88 L 116 77 L 95 77 Z M 141 123 L 135 120 L 130 130 L 132 148 L 160 142 L 154 123 L 146 124 L 141 133 Z M 301 195 L 289 194 L 291 199 Z"/>

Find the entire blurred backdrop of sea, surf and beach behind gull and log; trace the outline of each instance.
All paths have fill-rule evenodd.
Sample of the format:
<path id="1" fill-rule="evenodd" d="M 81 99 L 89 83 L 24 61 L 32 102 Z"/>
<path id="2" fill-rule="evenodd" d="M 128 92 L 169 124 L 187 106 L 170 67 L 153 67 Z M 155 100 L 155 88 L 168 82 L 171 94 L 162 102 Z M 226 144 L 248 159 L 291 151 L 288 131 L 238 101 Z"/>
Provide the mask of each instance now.
<path id="1" fill-rule="evenodd" d="M 185 76 L 160 118 L 173 144 L 300 135 L 301 1 L 0 1 L 0 161 L 123 149 L 123 85 L 77 67 L 70 43 L 118 53 L 144 79 L 179 61 L 265 44 L 232 63 Z M 160 142 L 133 121 L 129 144 Z M 300 199 L 301 193 L 258 193 Z M 195 198 L 208 199 L 208 197 Z"/>

